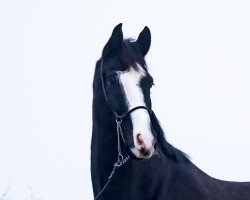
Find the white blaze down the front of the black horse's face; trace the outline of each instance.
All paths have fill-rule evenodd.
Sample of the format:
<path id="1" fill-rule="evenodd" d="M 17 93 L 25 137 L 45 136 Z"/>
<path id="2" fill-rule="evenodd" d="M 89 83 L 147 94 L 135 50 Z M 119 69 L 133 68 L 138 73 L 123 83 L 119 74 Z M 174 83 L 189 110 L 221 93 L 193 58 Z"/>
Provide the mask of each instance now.
<path id="1" fill-rule="evenodd" d="M 139 66 L 138 71 L 130 67 L 129 70 L 120 74 L 120 81 L 124 88 L 128 109 L 132 109 L 137 106 L 146 106 L 142 89 L 140 87 L 141 79 L 146 76 L 145 70 Z M 150 128 L 150 117 L 148 111 L 145 109 L 138 109 L 132 112 L 131 120 L 133 125 L 133 138 L 135 146 L 137 146 L 137 135 L 141 134 L 146 148 L 152 146 L 154 139 Z"/>

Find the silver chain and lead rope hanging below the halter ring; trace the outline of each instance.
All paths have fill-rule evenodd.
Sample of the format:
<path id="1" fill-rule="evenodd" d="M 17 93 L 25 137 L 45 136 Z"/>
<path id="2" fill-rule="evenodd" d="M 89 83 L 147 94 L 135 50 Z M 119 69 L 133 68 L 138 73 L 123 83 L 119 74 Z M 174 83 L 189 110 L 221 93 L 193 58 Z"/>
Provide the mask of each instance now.
<path id="1" fill-rule="evenodd" d="M 124 144 L 126 144 L 126 140 L 125 140 L 123 132 L 122 132 L 121 123 L 122 123 L 122 119 L 121 118 L 117 118 L 116 119 L 117 154 L 118 154 L 117 161 L 114 164 L 113 170 L 110 173 L 106 184 L 103 186 L 103 188 L 101 189 L 101 191 L 95 196 L 94 200 L 98 199 L 101 196 L 101 194 L 105 191 L 105 189 L 107 188 L 108 184 L 111 181 L 111 178 L 114 176 L 116 169 L 119 168 L 119 167 L 121 167 L 122 165 L 124 165 L 128 161 L 128 159 L 129 159 L 129 155 L 126 158 L 124 158 L 123 155 L 122 155 L 120 135 L 122 137 L 122 140 L 123 140 Z"/>

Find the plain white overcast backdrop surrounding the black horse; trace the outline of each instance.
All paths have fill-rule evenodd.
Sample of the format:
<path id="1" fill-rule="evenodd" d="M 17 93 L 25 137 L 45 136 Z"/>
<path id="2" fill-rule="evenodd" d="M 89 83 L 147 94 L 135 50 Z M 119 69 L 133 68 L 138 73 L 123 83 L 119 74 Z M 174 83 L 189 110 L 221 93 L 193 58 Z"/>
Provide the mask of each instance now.
<path id="1" fill-rule="evenodd" d="M 248 0 L 0 0 L 0 199 L 93 199 L 93 70 L 120 22 L 151 29 L 166 138 L 209 175 L 250 180 Z"/>

